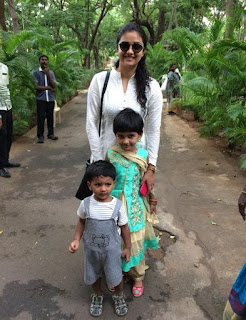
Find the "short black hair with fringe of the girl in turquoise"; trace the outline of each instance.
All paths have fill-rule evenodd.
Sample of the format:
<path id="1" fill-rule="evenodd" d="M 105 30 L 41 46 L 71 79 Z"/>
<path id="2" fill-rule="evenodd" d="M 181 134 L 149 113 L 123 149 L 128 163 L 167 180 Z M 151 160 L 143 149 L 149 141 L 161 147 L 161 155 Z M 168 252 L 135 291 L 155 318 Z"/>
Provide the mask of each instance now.
<path id="1" fill-rule="evenodd" d="M 119 112 L 113 122 L 114 134 L 127 131 L 142 134 L 143 126 L 144 123 L 141 115 L 130 108 Z"/>

